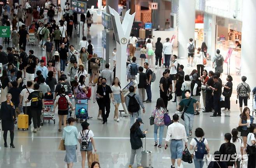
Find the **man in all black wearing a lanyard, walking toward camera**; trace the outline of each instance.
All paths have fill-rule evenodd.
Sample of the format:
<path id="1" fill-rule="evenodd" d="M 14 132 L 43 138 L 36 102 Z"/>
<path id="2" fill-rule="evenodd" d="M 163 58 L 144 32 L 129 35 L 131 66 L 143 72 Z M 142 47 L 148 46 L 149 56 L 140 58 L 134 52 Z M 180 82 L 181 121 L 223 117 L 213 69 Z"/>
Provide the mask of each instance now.
<path id="1" fill-rule="evenodd" d="M 109 113 L 110 113 L 109 94 L 114 103 L 114 95 L 112 93 L 110 86 L 108 86 L 106 84 L 106 81 L 107 81 L 107 79 L 103 77 L 101 79 L 102 85 L 98 86 L 97 91 L 96 91 L 97 95 L 99 96 L 99 109 L 102 111 L 102 119 L 103 119 L 102 124 L 107 123 L 107 118 L 109 117 Z M 105 113 L 105 109 L 106 109 L 106 113 Z"/>

